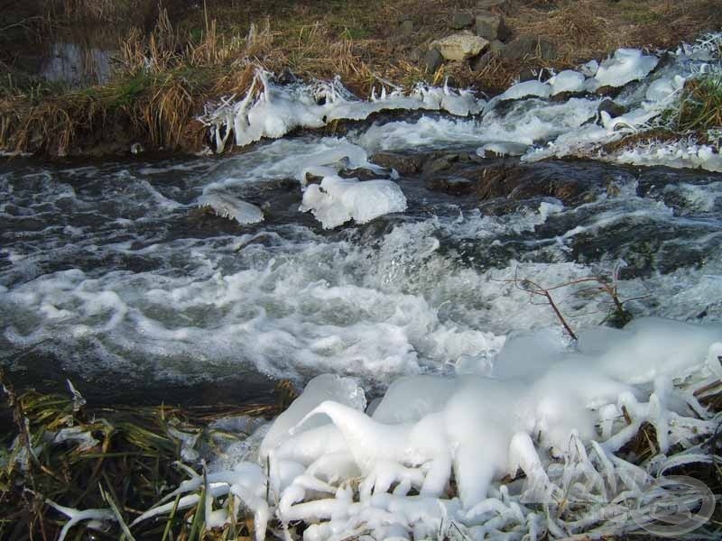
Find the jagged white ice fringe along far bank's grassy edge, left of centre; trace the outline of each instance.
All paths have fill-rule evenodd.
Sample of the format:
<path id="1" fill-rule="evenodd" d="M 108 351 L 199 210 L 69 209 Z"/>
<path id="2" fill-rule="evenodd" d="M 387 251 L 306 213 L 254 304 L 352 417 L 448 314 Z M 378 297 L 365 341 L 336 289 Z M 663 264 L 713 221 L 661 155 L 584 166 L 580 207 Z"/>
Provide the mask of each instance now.
<path id="1" fill-rule="evenodd" d="M 240 101 L 235 96 L 219 104 L 206 105 L 199 121 L 208 125 L 216 151 L 222 152 L 230 134 L 236 145 L 245 146 L 263 138 L 278 139 L 296 128 L 319 128 L 334 120 L 363 120 L 390 109 L 447 111 L 451 115 L 474 115 L 485 105 L 467 90 L 453 90 L 419 84 L 404 95 L 400 88 L 380 96 L 372 92 L 369 101 L 356 99 L 340 82 L 315 82 L 310 85 L 273 84 L 270 73 L 258 69 L 251 87 Z"/>

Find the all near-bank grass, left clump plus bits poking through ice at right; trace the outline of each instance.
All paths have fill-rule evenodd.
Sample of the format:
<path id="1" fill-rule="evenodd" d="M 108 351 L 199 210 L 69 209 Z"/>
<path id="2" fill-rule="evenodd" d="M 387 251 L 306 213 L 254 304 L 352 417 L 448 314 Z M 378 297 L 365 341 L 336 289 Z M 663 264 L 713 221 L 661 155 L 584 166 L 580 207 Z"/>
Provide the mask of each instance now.
<path id="1" fill-rule="evenodd" d="M 207 473 L 199 458 L 222 459 L 227 445 L 252 432 L 252 417 L 273 417 L 286 408 L 295 397 L 288 384 L 281 385 L 278 405 L 185 410 L 94 408 L 71 386 L 64 395 L 33 390 L 16 394 L 8 381 L 3 379 L 3 384 L 0 421 L 7 429 L 0 441 L 0 538 L 254 538 L 253 513 L 233 496 L 206 497 Z M 711 412 L 722 410 L 722 382 L 695 396 Z M 237 416 L 248 420 L 245 434 L 214 425 L 220 417 Z M 654 427 L 644 423 L 620 455 L 643 463 L 659 453 L 656 440 Z M 714 453 L 717 436 L 705 445 Z M 668 474 L 693 476 L 714 493 L 722 489 L 718 463 L 691 463 Z M 184 488 L 190 480 L 197 489 Z M 136 521 L 159 502 L 166 509 Z M 720 507 L 709 525 L 715 530 L 722 524 Z M 225 509 L 230 520 L 209 527 L 207 521 L 218 509 Z M 276 526 L 281 532 L 281 525 Z M 287 527 L 299 535 L 304 525 Z"/>

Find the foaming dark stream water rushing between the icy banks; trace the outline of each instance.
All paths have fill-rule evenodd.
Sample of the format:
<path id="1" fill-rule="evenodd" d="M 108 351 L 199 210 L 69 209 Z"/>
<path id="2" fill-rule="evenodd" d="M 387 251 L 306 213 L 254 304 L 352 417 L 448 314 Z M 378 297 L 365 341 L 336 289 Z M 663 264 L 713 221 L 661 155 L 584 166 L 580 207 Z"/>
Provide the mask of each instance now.
<path id="1" fill-rule="evenodd" d="M 420 148 L 415 124 L 405 145 L 393 124 L 220 159 L 3 163 L 3 363 L 20 381 L 53 388 L 70 377 L 115 399 L 256 398 L 273 379 L 322 372 L 380 390 L 400 374 L 479 371 L 510 333 L 561 336 L 514 277 L 552 286 L 615 269 L 620 297 L 638 298 L 634 315 L 722 316 L 722 175 L 537 162 L 521 174 L 575 179 L 583 193 L 566 205 L 533 191 L 480 201 L 430 180 L 464 186 L 500 165 L 475 158 L 466 128 Z M 388 148 L 384 129 L 397 153 L 457 163 L 402 174 L 403 214 L 329 231 L 299 212 L 310 155 L 349 141 Z M 264 223 L 199 211 L 209 187 L 264 206 Z M 571 293 L 555 295 L 572 326 L 604 319 L 608 298 Z M 209 383 L 218 390 L 197 392 Z"/>

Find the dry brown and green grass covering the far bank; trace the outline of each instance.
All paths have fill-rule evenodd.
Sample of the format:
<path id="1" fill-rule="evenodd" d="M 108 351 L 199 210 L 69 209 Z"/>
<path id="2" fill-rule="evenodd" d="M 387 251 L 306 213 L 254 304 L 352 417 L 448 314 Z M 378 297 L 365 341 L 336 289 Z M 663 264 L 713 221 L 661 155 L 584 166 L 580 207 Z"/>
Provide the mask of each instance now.
<path id="1" fill-rule="evenodd" d="M 39 4 L 42 14 L 13 23 L 14 30 L 27 27 L 34 39 L 46 41 L 56 39 L 58 28 L 115 28 L 121 34 L 115 75 L 105 86 L 63 88 L 23 79 L 13 59 L 0 58 L 7 72 L 0 89 L 0 150 L 50 156 L 125 153 L 132 142 L 199 151 L 208 134 L 195 117 L 209 99 L 242 95 L 255 66 L 300 78 L 338 74 L 359 96 L 380 79 L 410 87 L 447 77 L 494 93 L 524 69 L 566 69 L 620 46 L 670 47 L 722 25 L 715 0 L 510 0 L 504 16 L 513 35 L 551 42 L 554 60 L 495 58 L 480 69 L 449 62 L 427 73 L 420 51 L 454 32 L 453 14 L 476 13 L 477 2 L 207 0 L 167 9 L 151 0 Z M 398 22 L 407 18 L 413 32 L 403 34 Z"/>

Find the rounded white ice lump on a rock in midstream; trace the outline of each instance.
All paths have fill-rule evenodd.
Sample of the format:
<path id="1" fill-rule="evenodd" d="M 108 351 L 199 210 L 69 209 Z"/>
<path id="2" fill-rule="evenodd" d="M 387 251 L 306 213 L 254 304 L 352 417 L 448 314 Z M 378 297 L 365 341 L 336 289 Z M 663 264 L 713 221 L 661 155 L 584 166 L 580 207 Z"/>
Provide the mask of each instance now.
<path id="1" fill-rule="evenodd" d="M 311 211 L 325 229 L 350 220 L 366 224 L 374 218 L 403 212 L 406 197 L 391 180 L 341 179 L 325 177 L 320 185 L 311 184 L 303 194 L 301 211 Z"/>

